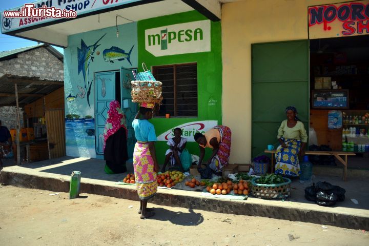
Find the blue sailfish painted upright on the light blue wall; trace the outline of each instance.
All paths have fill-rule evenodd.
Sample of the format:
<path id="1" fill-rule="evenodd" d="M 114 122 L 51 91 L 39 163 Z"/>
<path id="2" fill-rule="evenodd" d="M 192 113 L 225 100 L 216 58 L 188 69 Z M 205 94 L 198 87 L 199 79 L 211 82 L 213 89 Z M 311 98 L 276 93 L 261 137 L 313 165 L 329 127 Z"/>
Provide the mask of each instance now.
<path id="1" fill-rule="evenodd" d="M 90 63 L 91 61 L 93 61 L 93 59 L 95 58 L 93 56 L 93 54 L 95 53 L 97 47 L 99 47 L 100 45 L 98 45 L 97 43 L 101 40 L 101 38 L 103 38 L 106 35 L 106 33 L 101 36 L 93 45 L 87 46 L 86 43 L 84 42 L 83 39 L 81 39 L 81 47 L 77 48 L 77 58 L 78 58 L 78 74 L 80 74 L 80 72 L 82 72 L 83 77 L 84 77 L 84 81 L 85 81 L 85 88 L 87 90 L 87 103 L 90 106 L 90 101 L 89 101 L 89 95 L 90 95 L 90 90 L 91 90 L 91 85 L 89 84 L 88 81 L 88 75 L 89 75 L 89 67 L 90 67 Z M 87 76 L 86 76 L 87 74 Z M 92 83 L 92 81 L 91 81 Z"/>

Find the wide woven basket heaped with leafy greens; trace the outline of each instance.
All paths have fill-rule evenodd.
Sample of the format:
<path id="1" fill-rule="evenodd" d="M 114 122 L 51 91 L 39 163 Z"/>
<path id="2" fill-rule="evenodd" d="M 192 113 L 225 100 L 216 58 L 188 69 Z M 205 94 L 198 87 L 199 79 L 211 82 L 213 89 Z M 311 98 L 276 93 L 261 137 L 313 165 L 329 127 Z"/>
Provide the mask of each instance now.
<path id="1" fill-rule="evenodd" d="M 263 199 L 285 199 L 291 195 L 291 179 L 267 174 L 251 181 L 254 197 Z"/>

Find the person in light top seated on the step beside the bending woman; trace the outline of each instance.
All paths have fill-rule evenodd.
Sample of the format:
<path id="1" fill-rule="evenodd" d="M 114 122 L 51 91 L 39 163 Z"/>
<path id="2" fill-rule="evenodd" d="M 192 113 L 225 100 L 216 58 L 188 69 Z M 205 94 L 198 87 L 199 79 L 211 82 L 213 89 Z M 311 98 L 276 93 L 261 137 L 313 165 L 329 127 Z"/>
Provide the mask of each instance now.
<path id="1" fill-rule="evenodd" d="M 167 145 L 169 145 L 169 150 L 166 152 L 166 159 L 164 161 L 164 166 L 161 169 L 161 172 L 165 172 L 168 162 L 171 162 L 171 166 L 173 167 L 177 164 L 181 171 L 183 171 L 182 163 L 179 159 L 182 151 L 186 148 L 187 139 L 181 137 L 182 130 L 180 128 L 174 129 L 174 137 L 169 139 Z"/>

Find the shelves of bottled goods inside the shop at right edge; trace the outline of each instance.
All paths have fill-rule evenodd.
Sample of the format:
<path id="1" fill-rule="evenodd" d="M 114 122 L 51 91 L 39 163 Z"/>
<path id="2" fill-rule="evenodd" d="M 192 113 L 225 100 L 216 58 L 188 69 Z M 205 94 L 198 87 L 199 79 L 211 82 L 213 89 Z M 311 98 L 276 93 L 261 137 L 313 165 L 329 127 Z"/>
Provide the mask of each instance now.
<path id="1" fill-rule="evenodd" d="M 369 152 L 369 110 L 343 110 L 342 115 L 342 151 Z"/>

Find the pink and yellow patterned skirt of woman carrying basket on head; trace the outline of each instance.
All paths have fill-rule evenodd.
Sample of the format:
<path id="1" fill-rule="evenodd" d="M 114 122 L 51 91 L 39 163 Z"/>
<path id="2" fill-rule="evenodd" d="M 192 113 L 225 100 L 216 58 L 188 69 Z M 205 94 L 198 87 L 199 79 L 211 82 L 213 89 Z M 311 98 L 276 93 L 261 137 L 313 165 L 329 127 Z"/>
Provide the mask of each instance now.
<path id="1" fill-rule="evenodd" d="M 145 200 L 153 197 L 157 191 L 156 172 L 154 172 L 154 161 L 147 142 L 136 142 L 133 169 L 139 198 Z"/>

